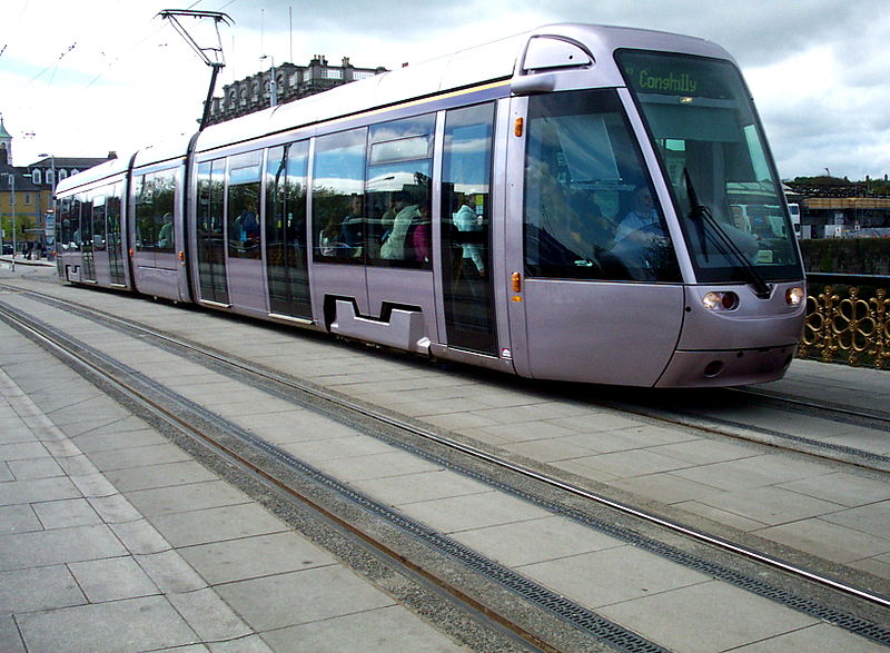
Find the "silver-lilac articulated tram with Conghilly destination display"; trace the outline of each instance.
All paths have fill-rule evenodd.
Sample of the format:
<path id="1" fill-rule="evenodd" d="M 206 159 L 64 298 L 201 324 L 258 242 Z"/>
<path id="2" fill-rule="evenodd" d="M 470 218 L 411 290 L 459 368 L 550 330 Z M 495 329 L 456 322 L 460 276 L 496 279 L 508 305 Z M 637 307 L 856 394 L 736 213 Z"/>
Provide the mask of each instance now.
<path id="1" fill-rule="evenodd" d="M 61 181 L 58 271 L 540 379 L 780 378 L 800 253 L 696 38 L 552 24 Z"/>

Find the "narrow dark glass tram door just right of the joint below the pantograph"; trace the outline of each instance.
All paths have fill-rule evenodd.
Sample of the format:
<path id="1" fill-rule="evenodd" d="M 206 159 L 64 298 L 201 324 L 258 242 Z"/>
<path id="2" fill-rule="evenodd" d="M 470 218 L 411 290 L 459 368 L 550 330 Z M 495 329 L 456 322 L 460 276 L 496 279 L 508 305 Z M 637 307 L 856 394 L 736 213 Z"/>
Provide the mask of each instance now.
<path id="1" fill-rule="evenodd" d="M 228 306 L 226 241 L 222 229 L 226 159 L 198 165 L 196 237 L 198 299 Z"/>

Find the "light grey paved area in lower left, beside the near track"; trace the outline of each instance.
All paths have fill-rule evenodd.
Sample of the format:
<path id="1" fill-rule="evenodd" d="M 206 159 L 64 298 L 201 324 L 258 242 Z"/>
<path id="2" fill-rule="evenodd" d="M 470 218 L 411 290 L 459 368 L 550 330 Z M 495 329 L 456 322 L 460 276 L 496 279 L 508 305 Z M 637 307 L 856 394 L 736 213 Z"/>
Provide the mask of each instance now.
<path id="1" fill-rule="evenodd" d="M 4 326 L 0 352 L 3 653 L 462 650 Z"/>

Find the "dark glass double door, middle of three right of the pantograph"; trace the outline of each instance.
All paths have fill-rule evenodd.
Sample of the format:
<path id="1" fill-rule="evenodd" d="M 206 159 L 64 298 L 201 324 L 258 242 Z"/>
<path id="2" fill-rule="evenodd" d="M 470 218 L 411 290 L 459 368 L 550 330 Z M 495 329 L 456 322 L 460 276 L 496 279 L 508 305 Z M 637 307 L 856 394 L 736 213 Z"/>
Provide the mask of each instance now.
<path id="1" fill-rule="evenodd" d="M 270 148 L 266 158 L 266 278 L 269 314 L 312 320 L 306 249 L 309 141 Z"/>

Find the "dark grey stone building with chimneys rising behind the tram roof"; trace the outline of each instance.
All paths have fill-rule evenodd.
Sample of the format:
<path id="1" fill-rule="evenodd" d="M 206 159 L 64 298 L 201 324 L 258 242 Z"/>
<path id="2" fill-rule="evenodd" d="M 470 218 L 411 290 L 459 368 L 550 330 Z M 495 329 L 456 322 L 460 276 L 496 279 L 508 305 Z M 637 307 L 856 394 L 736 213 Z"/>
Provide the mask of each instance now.
<path id="1" fill-rule="evenodd" d="M 214 98 L 208 125 L 216 125 L 254 111 L 284 105 L 334 87 L 374 77 L 386 68 L 356 68 L 344 57 L 339 66 L 332 66 L 322 55 L 316 55 L 308 66 L 281 63 L 269 70 L 222 87 L 222 97 Z M 273 75 L 275 102 L 273 102 Z"/>

